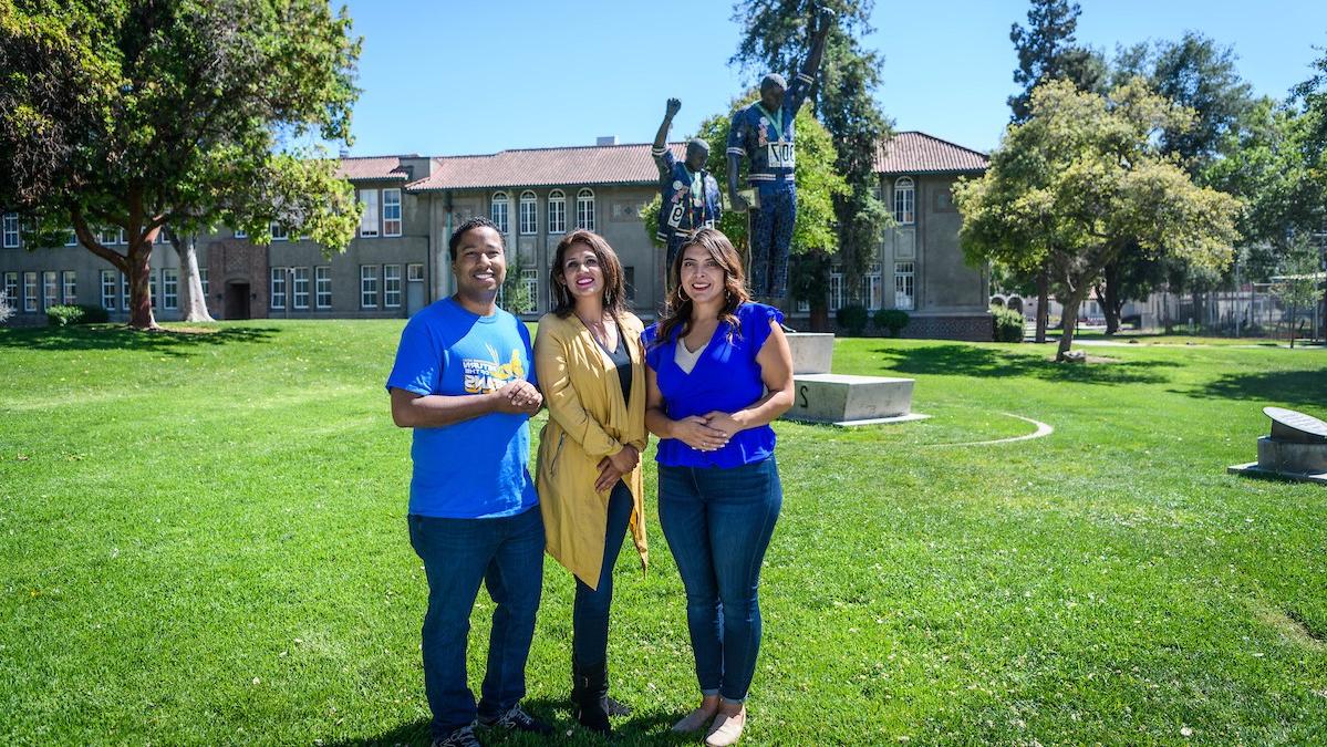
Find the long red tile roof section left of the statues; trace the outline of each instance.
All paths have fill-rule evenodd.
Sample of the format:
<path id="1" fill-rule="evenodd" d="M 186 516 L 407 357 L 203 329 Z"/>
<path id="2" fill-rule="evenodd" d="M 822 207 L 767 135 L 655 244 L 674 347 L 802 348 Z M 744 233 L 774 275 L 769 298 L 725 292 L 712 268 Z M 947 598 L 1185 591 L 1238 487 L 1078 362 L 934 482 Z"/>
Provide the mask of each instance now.
<path id="1" fill-rule="evenodd" d="M 682 158 L 686 143 L 669 143 Z M 653 184 L 658 170 L 650 145 L 604 145 L 504 150 L 491 155 L 433 159 L 433 174 L 411 191 L 541 187 L 557 184 Z"/>

